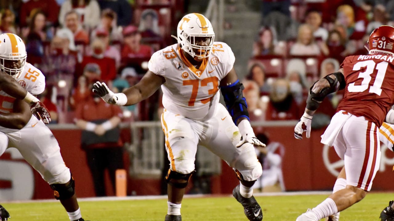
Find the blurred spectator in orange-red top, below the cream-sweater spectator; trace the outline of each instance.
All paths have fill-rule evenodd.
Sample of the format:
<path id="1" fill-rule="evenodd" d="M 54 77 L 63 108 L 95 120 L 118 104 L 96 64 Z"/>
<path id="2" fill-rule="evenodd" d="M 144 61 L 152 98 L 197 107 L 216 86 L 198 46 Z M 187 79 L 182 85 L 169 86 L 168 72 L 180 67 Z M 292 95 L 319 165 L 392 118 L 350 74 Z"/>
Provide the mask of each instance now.
<path id="1" fill-rule="evenodd" d="M 82 28 L 78 13 L 75 10 L 71 10 L 64 15 L 64 22 L 65 26 L 74 34 L 75 42 L 89 44 L 89 35 Z"/>

